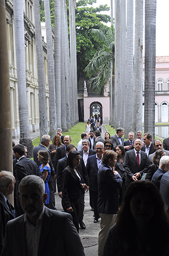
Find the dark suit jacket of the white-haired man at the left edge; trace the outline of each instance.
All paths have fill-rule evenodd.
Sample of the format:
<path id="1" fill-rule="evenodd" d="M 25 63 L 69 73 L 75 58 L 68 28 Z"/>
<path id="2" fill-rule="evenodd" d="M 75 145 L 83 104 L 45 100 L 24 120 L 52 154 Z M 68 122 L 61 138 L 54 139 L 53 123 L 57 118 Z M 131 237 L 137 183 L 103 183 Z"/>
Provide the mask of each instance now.
<path id="1" fill-rule="evenodd" d="M 14 210 L 12 204 L 11 207 Z M 9 208 L 7 207 L 6 201 L 4 200 L 3 196 L 0 194 L 0 254 L 2 252 L 2 247 L 4 243 L 6 224 L 8 220 L 11 219 L 14 219 L 14 217 L 10 212 Z"/>

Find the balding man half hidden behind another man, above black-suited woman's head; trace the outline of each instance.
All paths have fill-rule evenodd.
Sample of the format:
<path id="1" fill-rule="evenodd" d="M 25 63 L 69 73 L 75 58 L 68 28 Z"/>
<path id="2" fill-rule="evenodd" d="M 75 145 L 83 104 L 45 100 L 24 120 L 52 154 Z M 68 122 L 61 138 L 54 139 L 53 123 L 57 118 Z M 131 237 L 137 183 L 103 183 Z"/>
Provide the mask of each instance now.
<path id="1" fill-rule="evenodd" d="M 61 147 L 58 147 L 56 150 L 56 154 L 55 154 L 55 164 L 54 164 L 54 168 L 55 168 L 55 173 L 57 171 L 57 161 L 61 158 L 66 157 L 66 146 L 71 144 L 71 137 L 69 135 L 66 135 L 64 137 L 64 145 Z"/>

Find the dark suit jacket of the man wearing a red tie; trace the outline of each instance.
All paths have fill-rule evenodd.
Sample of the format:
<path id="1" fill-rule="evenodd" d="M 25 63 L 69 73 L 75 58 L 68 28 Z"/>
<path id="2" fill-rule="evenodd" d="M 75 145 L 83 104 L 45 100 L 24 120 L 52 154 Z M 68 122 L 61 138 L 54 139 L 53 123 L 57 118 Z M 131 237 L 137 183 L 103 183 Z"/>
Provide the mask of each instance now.
<path id="1" fill-rule="evenodd" d="M 140 161 L 140 168 L 139 173 L 142 174 L 147 172 L 147 169 L 149 167 L 149 159 L 147 157 L 147 154 L 145 152 L 141 151 L 141 161 Z M 126 186 L 132 182 L 133 174 L 138 173 L 138 162 L 135 156 L 134 149 L 129 150 L 125 153 L 125 163 L 124 168 L 126 170 Z M 141 179 L 139 177 L 138 179 Z"/>

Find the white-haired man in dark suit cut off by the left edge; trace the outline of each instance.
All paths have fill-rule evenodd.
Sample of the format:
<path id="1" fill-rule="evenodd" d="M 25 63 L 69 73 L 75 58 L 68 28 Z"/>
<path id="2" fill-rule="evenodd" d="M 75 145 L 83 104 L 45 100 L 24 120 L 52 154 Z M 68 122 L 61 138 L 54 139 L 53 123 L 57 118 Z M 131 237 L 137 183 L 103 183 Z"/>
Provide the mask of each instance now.
<path id="1" fill-rule="evenodd" d="M 2 252 L 6 224 L 8 220 L 15 218 L 15 209 L 7 199 L 14 190 L 15 178 L 12 172 L 2 170 L 0 172 L 0 254 Z"/>

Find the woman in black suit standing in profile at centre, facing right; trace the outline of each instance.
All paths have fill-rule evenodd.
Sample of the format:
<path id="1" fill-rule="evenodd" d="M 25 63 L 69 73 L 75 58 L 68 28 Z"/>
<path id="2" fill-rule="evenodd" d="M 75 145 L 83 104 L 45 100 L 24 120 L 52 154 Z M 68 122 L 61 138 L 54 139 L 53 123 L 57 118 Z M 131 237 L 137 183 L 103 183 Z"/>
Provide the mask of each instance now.
<path id="1" fill-rule="evenodd" d="M 73 223 L 79 230 L 78 212 L 79 212 L 79 197 L 80 189 L 87 189 L 86 184 L 81 183 L 81 175 L 77 170 L 80 164 L 80 153 L 76 150 L 71 150 L 68 153 L 67 167 L 62 175 L 62 207 L 65 212 L 70 213 L 73 218 Z"/>

